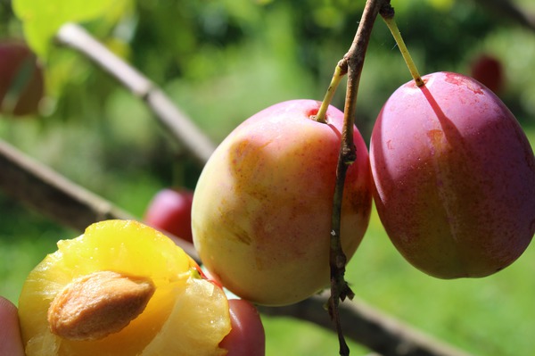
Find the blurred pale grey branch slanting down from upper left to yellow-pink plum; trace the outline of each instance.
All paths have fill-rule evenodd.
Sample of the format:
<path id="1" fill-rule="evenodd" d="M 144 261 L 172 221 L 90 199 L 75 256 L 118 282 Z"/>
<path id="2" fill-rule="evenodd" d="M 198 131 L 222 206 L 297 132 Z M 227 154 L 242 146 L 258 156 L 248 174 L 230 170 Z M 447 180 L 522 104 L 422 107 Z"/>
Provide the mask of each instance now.
<path id="1" fill-rule="evenodd" d="M 168 128 L 177 141 L 193 155 L 199 165 L 204 163 L 214 151 L 215 145 L 197 128 L 184 112 L 136 69 L 87 33 L 86 29 L 74 23 L 67 23 L 56 34 L 56 41 L 62 46 L 76 49 L 94 61 L 103 70 L 127 87 L 133 95 L 145 101 L 161 124 Z"/>

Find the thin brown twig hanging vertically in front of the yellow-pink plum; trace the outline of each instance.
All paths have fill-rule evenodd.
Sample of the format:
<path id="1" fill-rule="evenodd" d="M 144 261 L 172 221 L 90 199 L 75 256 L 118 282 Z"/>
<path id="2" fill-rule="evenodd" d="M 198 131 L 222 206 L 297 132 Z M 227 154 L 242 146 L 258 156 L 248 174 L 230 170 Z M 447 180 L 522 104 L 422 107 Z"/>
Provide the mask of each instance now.
<path id="1" fill-rule="evenodd" d="M 346 282 L 345 266 L 347 257 L 342 250 L 341 241 L 341 217 L 342 217 L 342 196 L 345 177 L 348 168 L 356 160 L 357 150 L 353 141 L 353 130 L 355 125 L 355 113 L 357 112 L 358 84 L 364 66 L 366 49 L 374 28 L 374 21 L 383 7 L 391 7 L 390 0 L 366 0 L 364 12 L 358 24 L 357 33 L 350 46 L 350 50 L 338 62 L 333 77 L 340 74 L 348 74 L 347 91 L 344 105 L 344 119 L 342 128 L 342 140 L 338 164 L 336 167 L 336 185 L 333 195 L 333 219 L 331 230 L 331 245 L 329 263 L 331 269 L 331 296 L 328 301 L 329 314 L 333 320 L 338 333 L 340 344 L 340 355 L 350 354 L 350 349 L 345 342 L 342 325 L 339 315 L 340 301 L 346 298 L 352 299 L 354 294 Z M 328 91 L 327 91 L 328 92 Z M 326 96 L 326 95 L 325 95 Z"/>

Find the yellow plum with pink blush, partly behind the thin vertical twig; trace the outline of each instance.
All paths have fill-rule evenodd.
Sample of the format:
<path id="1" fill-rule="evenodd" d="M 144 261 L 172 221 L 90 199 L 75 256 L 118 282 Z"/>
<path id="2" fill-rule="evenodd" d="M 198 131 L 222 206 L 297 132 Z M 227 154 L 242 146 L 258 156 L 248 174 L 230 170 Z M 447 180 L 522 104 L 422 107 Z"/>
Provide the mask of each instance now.
<path id="1" fill-rule="evenodd" d="M 329 284 L 329 241 L 343 114 L 309 119 L 320 103 L 277 103 L 245 120 L 202 170 L 192 208 L 193 243 L 223 286 L 264 305 L 299 302 Z M 342 201 L 342 248 L 355 253 L 372 193 L 366 144 Z"/>

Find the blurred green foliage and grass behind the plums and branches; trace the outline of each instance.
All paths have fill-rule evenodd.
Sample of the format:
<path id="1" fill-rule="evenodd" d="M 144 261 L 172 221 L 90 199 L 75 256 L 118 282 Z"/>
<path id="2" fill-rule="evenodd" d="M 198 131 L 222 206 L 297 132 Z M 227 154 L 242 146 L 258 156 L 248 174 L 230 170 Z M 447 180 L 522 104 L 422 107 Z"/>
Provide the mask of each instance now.
<path id="1" fill-rule="evenodd" d="M 86 29 L 161 86 L 214 141 L 268 105 L 321 100 L 350 46 L 362 1 L 122 0 Z M 502 62 L 500 96 L 535 142 L 535 33 L 465 0 L 391 4 L 421 73 L 469 73 L 476 55 Z M 535 13 L 530 0 L 516 4 Z M 9 1 L 0 37 L 22 37 Z M 48 96 L 36 117 L 0 116 L 0 138 L 137 217 L 158 190 L 192 188 L 200 173 L 147 110 L 110 76 L 69 48 L 44 58 Z M 410 79 L 381 20 L 374 27 L 358 93 L 357 124 L 367 140 L 392 91 Z M 343 88 L 334 104 L 342 108 Z M 0 172 L 2 174 L 2 172 Z M 78 236 L 0 192 L 0 294 L 16 302 L 24 278 L 61 238 Z M 475 355 L 527 355 L 535 348 L 535 251 L 483 279 L 443 281 L 402 260 L 376 214 L 350 261 L 358 298 Z M 336 354 L 330 331 L 264 318 L 268 355 Z M 351 354 L 365 349 L 350 344 Z"/>

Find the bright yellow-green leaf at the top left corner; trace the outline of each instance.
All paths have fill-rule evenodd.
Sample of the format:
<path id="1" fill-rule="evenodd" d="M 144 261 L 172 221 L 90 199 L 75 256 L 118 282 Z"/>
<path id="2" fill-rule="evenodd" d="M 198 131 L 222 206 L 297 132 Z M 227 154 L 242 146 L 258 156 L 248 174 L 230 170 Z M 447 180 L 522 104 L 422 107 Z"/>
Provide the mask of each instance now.
<path id="1" fill-rule="evenodd" d="M 29 46 L 45 57 L 51 40 L 66 22 L 95 20 L 121 0 L 12 0 L 13 11 L 23 23 Z"/>

